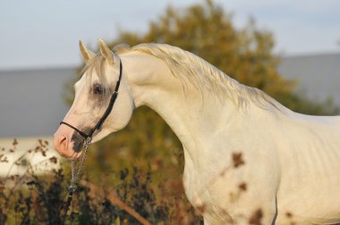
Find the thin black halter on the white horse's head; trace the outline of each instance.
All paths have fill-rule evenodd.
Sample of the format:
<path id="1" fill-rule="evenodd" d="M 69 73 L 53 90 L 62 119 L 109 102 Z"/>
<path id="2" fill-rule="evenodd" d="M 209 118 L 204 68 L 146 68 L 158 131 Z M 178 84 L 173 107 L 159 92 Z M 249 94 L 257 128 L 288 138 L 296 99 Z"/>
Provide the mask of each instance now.
<path id="1" fill-rule="evenodd" d="M 122 65 L 122 61 L 119 62 L 119 78 L 117 80 L 117 83 L 115 84 L 115 92 L 114 94 L 112 94 L 111 99 L 110 99 L 110 103 L 108 104 L 106 111 L 104 112 L 103 116 L 100 118 L 100 120 L 97 122 L 97 124 L 89 130 L 89 134 L 81 131 L 80 129 L 77 129 L 75 127 L 73 127 L 71 124 L 61 121 L 60 124 L 64 124 L 74 130 L 76 130 L 82 137 L 84 137 L 85 139 L 91 139 L 93 133 L 96 131 L 96 129 L 100 129 L 101 126 L 103 125 L 103 123 L 106 121 L 108 115 L 110 114 L 110 112 L 112 111 L 112 109 L 114 108 L 115 105 L 115 99 L 118 96 L 118 89 L 119 89 L 119 85 L 121 84 L 121 79 L 122 79 L 122 73 L 123 73 L 123 65 Z"/>

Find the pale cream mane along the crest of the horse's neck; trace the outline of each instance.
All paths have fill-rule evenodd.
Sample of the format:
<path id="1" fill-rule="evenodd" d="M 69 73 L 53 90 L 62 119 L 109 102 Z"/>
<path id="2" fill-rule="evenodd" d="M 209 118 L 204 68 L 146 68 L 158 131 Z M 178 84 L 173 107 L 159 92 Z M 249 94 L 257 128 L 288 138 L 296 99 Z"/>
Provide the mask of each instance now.
<path id="1" fill-rule="evenodd" d="M 230 98 L 238 106 L 246 106 L 249 101 L 252 101 L 260 108 L 275 108 L 281 112 L 285 111 L 282 104 L 263 91 L 240 84 L 207 61 L 179 47 L 150 43 L 133 46 L 132 50 L 162 59 L 173 75 L 181 79 L 184 85 L 189 81 L 200 90 L 217 94 L 219 98 Z M 119 54 L 119 51 L 117 53 Z"/>

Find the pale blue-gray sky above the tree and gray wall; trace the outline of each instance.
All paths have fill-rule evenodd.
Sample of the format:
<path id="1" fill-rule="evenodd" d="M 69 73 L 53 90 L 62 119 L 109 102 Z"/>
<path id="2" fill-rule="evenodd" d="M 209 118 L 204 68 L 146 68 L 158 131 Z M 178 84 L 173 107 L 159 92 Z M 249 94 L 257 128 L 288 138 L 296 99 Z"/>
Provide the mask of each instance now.
<path id="1" fill-rule="evenodd" d="M 81 39 L 95 49 L 98 37 L 119 30 L 143 33 L 167 5 L 181 9 L 203 0 L 0 0 L 0 70 L 77 66 Z M 237 28 L 250 17 L 270 30 L 276 53 L 340 52 L 339 0 L 215 0 L 234 14 Z"/>

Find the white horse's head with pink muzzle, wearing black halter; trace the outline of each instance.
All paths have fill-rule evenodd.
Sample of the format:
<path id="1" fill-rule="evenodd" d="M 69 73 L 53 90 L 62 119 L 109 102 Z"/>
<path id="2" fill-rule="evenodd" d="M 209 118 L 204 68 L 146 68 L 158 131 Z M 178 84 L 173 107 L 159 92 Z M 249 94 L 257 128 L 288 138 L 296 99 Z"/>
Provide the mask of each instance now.
<path id="1" fill-rule="evenodd" d="M 72 107 L 55 132 L 55 150 L 66 158 L 79 158 L 87 138 L 96 142 L 123 129 L 135 107 L 121 59 L 103 40 L 99 43 L 100 52 L 94 54 L 80 42 L 86 65 L 74 85 Z"/>

